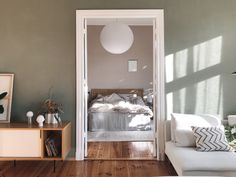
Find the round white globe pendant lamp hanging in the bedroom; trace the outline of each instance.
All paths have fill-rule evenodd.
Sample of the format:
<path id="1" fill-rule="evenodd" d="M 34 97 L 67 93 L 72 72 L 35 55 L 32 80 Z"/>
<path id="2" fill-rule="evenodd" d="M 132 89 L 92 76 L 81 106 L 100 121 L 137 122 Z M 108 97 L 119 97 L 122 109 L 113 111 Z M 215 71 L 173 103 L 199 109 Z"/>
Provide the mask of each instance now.
<path id="1" fill-rule="evenodd" d="M 130 27 L 122 23 L 111 23 L 103 27 L 100 34 L 103 48 L 112 54 L 122 54 L 129 50 L 134 42 Z"/>

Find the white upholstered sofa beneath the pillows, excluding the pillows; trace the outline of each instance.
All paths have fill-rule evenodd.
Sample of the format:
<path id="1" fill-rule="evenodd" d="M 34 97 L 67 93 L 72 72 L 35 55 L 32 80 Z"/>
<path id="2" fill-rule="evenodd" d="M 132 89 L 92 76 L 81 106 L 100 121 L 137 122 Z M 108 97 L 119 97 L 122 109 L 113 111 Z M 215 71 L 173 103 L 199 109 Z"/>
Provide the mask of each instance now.
<path id="1" fill-rule="evenodd" d="M 171 141 L 171 122 L 166 122 L 165 154 L 179 176 L 236 177 L 236 153 L 199 152 L 194 147 L 178 147 Z"/>

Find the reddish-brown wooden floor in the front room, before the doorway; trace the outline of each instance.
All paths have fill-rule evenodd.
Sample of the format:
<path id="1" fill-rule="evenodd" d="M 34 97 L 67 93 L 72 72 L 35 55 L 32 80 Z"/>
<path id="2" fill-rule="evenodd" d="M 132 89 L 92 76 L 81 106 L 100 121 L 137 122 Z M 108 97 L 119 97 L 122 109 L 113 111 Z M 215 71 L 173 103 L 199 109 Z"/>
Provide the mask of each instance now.
<path id="1" fill-rule="evenodd" d="M 0 177 L 151 177 L 168 176 L 165 162 L 157 161 L 53 161 L 0 162 Z"/>

